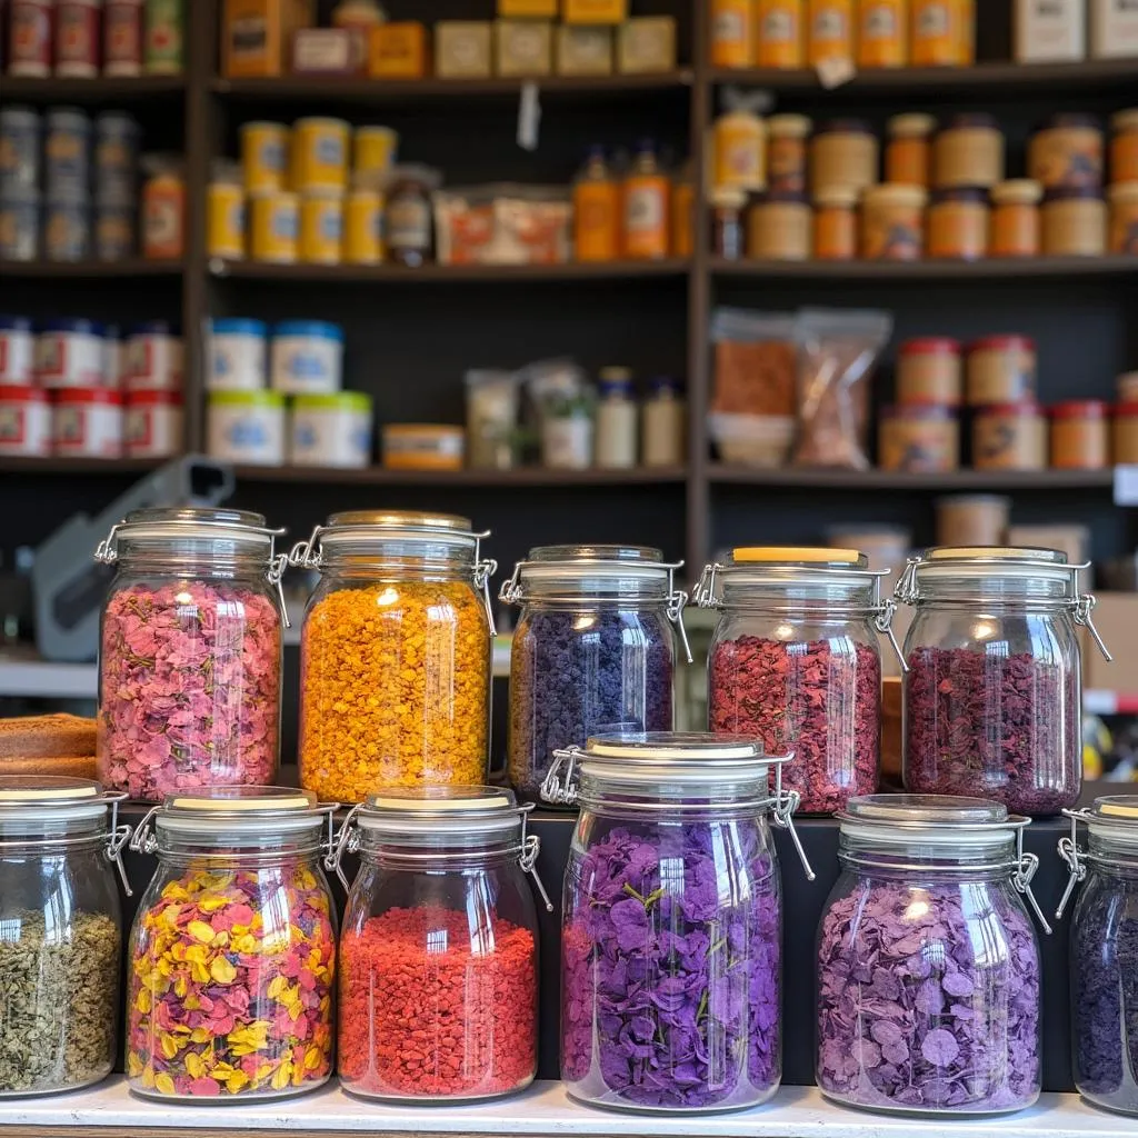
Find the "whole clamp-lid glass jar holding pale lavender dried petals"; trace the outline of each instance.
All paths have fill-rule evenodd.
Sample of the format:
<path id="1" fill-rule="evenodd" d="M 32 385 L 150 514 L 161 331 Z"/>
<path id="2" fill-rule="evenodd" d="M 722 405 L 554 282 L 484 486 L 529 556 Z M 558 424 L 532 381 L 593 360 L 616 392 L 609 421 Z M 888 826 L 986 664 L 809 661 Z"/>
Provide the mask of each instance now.
<path id="1" fill-rule="evenodd" d="M 980 798 L 871 794 L 839 822 L 842 872 L 818 927 L 818 1088 L 920 1115 L 1031 1106 L 1040 958 L 1020 894 L 1047 924 L 1028 819 Z"/>

